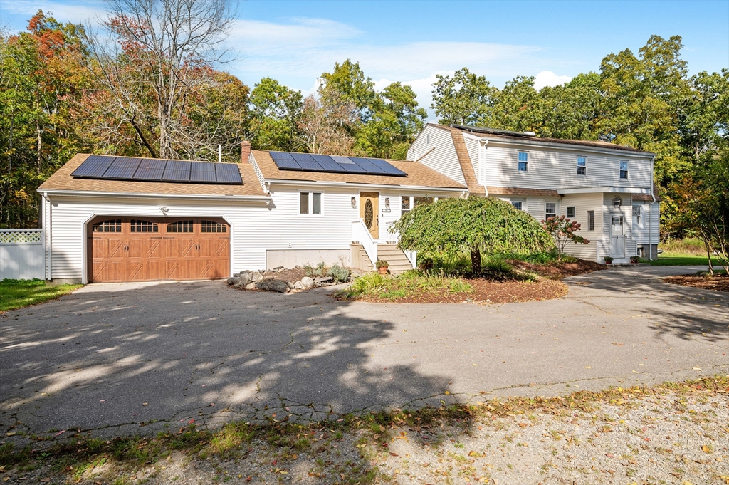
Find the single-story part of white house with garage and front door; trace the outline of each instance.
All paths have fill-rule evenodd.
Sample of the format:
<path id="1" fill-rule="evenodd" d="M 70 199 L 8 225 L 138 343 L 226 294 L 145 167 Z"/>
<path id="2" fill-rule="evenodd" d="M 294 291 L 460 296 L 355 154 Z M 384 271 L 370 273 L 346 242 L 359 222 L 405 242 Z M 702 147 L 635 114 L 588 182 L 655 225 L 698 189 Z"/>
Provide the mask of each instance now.
<path id="1" fill-rule="evenodd" d="M 467 194 L 422 163 L 377 160 L 383 171 L 373 159 L 352 158 L 366 169 L 336 159 L 359 173 L 281 169 L 250 144 L 241 163 L 192 162 L 192 172 L 184 160 L 76 155 L 39 187 L 46 278 L 214 279 L 320 261 L 371 268 L 378 257 L 397 272 L 413 268 L 415 255 L 395 247 L 390 223 L 418 203 Z M 221 165 L 234 168 L 236 183 L 204 171 Z M 195 170 L 200 181 L 190 182 Z"/>

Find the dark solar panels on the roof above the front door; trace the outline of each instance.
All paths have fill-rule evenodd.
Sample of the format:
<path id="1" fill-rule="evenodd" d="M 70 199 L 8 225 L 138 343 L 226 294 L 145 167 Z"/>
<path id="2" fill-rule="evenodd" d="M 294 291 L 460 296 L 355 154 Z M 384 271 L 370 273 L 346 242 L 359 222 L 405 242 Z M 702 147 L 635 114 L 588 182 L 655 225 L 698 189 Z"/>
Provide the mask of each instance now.
<path id="1" fill-rule="evenodd" d="M 281 170 L 330 172 L 333 174 L 364 174 L 408 176 L 381 158 L 340 157 L 308 153 L 269 152 Z"/>

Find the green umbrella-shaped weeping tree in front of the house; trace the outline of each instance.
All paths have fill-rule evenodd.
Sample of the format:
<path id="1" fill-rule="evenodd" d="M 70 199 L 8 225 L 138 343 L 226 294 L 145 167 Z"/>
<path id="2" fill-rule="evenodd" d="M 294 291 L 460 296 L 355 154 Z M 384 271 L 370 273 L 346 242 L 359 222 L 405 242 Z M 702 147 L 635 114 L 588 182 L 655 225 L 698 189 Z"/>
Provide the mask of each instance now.
<path id="1" fill-rule="evenodd" d="M 418 252 L 469 252 L 471 269 L 481 271 L 481 253 L 539 252 L 554 247 L 542 225 L 511 203 L 492 197 L 447 198 L 417 206 L 393 228 L 399 247 Z"/>

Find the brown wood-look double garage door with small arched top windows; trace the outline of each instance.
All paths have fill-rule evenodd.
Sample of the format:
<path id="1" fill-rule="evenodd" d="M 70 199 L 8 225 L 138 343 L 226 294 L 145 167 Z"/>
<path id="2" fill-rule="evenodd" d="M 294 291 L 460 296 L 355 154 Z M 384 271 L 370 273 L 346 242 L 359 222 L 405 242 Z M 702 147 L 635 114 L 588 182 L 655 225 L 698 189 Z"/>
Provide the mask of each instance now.
<path id="1" fill-rule="evenodd" d="M 230 273 L 221 219 L 97 217 L 88 225 L 89 282 L 217 279 Z"/>

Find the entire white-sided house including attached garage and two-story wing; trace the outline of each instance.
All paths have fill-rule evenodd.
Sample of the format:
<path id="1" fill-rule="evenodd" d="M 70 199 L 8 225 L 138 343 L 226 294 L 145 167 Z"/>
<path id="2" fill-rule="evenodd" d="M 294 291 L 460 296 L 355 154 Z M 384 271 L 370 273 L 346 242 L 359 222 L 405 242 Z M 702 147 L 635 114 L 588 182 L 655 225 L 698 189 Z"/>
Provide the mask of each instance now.
<path id="1" fill-rule="evenodd" d="M 76 155 L 41 187 L 45 277 L 122 282 L 226 278 L 340 263 L 394 272 L 397 220 L 438 198 L 493 195 L 537 220 L 565 214 L 616 262 L 655 257 L 651 153 L 600 141 L 426 125 L 408 160 L 251 150 L 241 163 Z M 649 248 L 652 248 L 649 251 Z"/>

